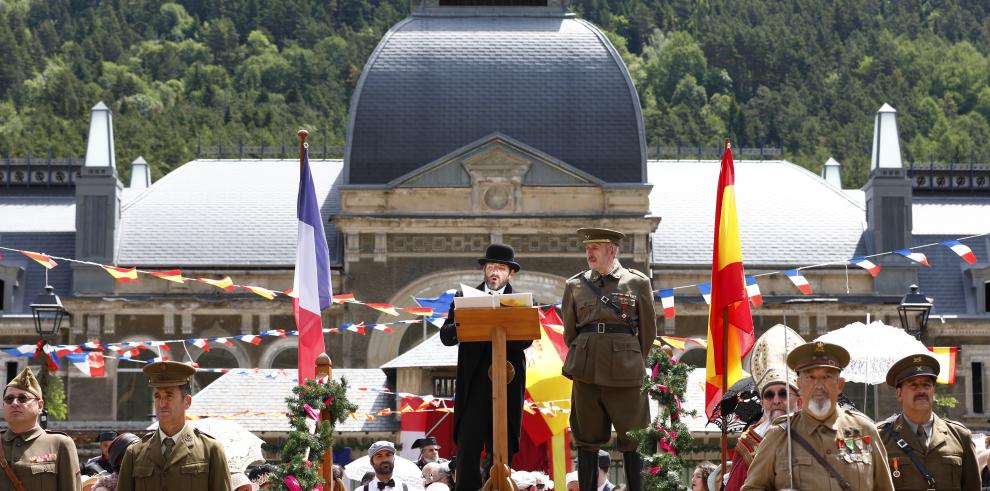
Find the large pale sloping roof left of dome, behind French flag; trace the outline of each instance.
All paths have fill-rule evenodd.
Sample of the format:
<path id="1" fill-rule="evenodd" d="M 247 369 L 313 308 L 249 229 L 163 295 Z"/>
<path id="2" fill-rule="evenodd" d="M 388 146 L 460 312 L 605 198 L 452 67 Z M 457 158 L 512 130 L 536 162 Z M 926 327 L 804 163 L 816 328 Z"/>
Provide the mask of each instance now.
<path id="1" fill-rule="evenodd" d="M 331 265 L 340 264 L 339 160 L 310 161 Z M 298 160 L 194 160 L 121 209 L 117 264 L 292 267 Z"/>

